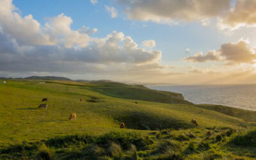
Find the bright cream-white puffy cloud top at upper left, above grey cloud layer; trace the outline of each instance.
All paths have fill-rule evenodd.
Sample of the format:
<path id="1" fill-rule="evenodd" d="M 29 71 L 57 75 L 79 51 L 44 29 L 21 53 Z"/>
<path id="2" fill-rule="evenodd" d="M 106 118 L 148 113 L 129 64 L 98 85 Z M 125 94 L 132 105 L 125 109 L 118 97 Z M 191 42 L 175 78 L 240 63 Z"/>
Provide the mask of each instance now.
<path id="1" fill-rule="evenodd" d="M 8 36 L 21 45 L 64 45 L 67 48 L 86 47 L 90 42 L 90 34 L 97 29 L 88 31 L 81 28 L 74 31 L 70 28 L 72 19 L 63 13 L 49 18 L 44 26 L 33 15 L 21 17 L 12 0 L 0 1 L 0 27 Z"/>

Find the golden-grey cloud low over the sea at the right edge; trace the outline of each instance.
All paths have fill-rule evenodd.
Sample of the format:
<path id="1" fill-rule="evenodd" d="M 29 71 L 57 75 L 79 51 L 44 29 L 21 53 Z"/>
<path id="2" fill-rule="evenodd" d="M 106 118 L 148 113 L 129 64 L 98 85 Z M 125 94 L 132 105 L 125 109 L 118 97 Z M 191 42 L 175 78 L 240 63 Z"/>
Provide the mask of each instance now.
<path id="1" fill-rule="evenodd" d="M 248 40 L 242 38 L 236 43 L 221 45 L 218 51 L 208 51 L 206 54 L 198 52 L 194 56 L 182 58 L 182 60 L 191 62 L 224 61 L 227 65 L 254 63 L 255 51 L 255 48 L 248 46 Z"/>

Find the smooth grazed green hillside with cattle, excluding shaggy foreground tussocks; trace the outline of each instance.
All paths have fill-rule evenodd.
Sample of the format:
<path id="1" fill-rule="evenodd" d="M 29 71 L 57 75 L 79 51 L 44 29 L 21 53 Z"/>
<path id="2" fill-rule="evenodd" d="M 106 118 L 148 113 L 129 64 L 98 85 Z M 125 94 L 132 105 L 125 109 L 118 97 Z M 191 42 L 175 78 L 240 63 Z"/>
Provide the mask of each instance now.
<path id="1" fill-rule="evenodd" d="M 196 118 L 198 129 L 203 131 L 214 126 L 234 129 L 243 129 L 241 126 L 244 125 L 248 129 L 255 126 L 254 123 L 239 118 L 188 104 L 157 103 L 161 100 L 169 102 L 166 101 L 167 98 L 160 97 L 165 93 L 170 96 L 174 94 L 175 97 L 175 93 L 172 92 L 152 91 L 141 86 L 120 86 L 122 84 L 116 83 L 107 85 L 68 81 L 49 82 L 51 83 L 38 84 L 35 81 L 8 81 L 6 84 L 0 84 L 0 148 L 25 140 L 38 141 L 56 136 L 74 134 L 98 136 L 109 131 L 120 131 L 118 128 L 120 122 L 125 122 L 127 126 L 127 129 L 121 131 L 143 134 L 152 132 L 147 129 L 193 128 L 195 126 L 190 123 L 191 118 Z M 125 93 L 119 94 L 119 91 L 109 90 L 110 85 L 118 90 L 122 88 Z M 129 95 L 131 88 L 137 88 L 138 93 Z M 132 100 L 138 99 L 137 96 L 140 94 L 144 95 L 140 99 L 154 97 L 157 102 Z M 49 108 L 38 109 L 37 106 L 44 97 L 49 99 Z M 83 99 L 82 102 L 79 101 L 80 98 Z M 138 104 L 135 104 L 135 101 Z M 201 110 L 203 113 L 200 113 Z M 68 120 L 70 113 L 76 113 L 77 120 L 70 122 Z"/>

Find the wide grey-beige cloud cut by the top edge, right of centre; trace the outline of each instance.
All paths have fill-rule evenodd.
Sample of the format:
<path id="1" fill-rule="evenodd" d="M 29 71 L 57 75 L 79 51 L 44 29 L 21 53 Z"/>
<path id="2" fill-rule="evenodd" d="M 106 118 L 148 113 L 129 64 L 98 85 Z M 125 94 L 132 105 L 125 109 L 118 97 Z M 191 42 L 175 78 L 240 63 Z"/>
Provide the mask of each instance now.
<path id="1" fill-rule="evenodd" d="M 132 20 L 151 20 L 161 24 L 177 24 L 179 21 L 200 21 L 206 25 L 211 18 L 230 10 L 231 0 L 116 0 L 124 6 Z"/>

